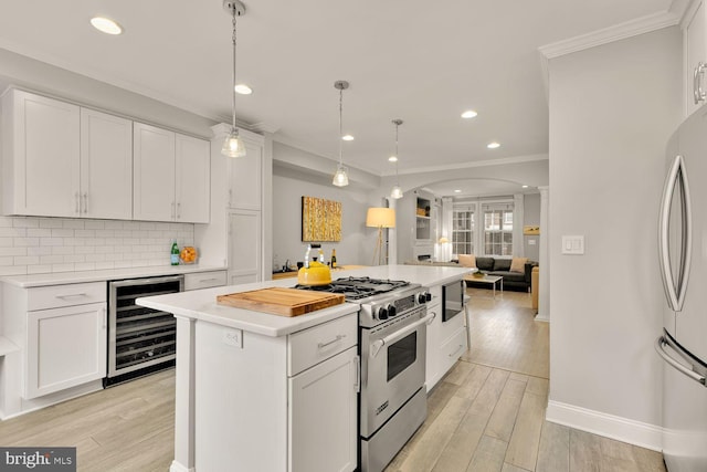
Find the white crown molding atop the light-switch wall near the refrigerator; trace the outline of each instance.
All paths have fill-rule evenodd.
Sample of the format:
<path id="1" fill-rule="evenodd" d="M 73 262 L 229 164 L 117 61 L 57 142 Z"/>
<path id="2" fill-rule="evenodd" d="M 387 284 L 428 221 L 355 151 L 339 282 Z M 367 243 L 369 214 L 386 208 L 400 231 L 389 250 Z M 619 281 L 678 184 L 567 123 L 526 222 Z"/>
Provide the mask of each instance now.
<path id="1" fill-rule="evenodd" d="M 614 24 L 613 27 L 603 28 L 587 34 L 580 34 L 579 36 L 569 38 L 567 40 L 538 48 L 546 97 L 549 97 L 548 62 L 550 59 L 679 24 L 680 20 L 685 15 L 688 1 L 689 0 L 674 0 L 667 11 L 647 14 L 645 17 Z"/>

